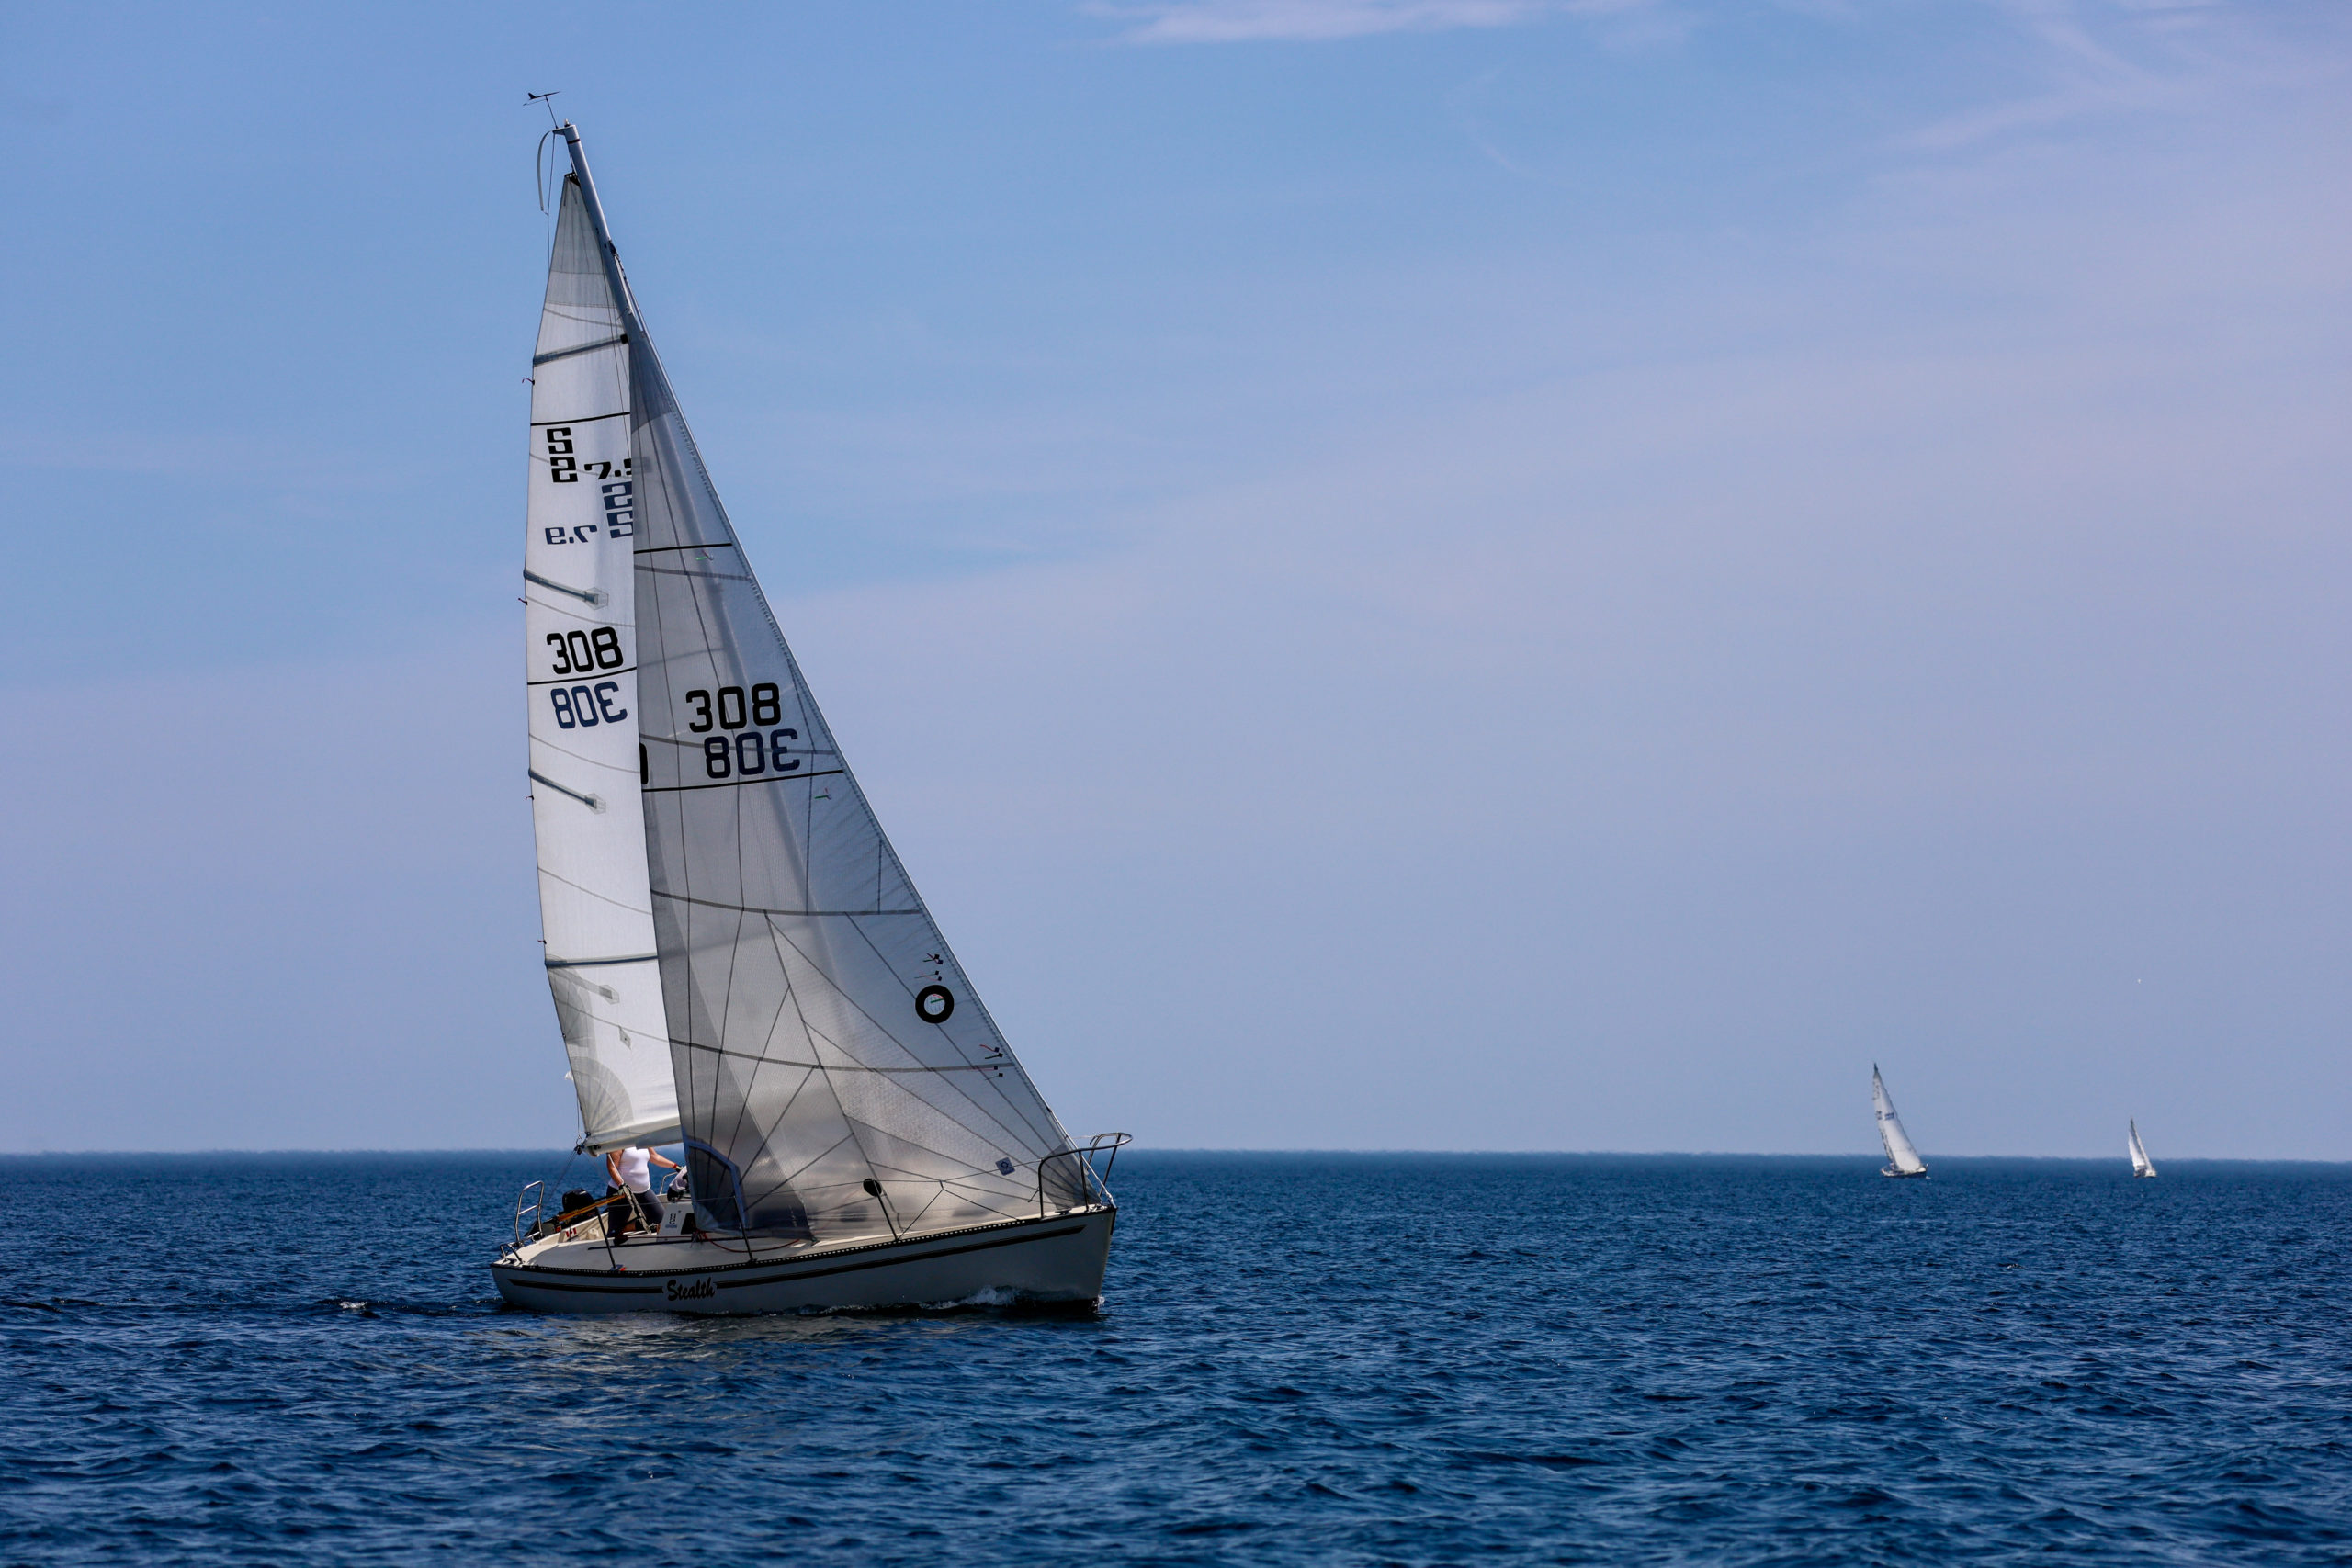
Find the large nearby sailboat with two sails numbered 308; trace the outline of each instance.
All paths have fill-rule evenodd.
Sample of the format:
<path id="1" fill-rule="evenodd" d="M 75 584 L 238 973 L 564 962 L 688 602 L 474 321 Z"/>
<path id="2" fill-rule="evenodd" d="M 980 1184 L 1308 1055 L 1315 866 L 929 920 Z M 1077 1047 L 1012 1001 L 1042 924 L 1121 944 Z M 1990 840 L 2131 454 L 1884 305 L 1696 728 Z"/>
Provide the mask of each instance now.
<path id="1" fill-rule="evenodd" d="M 515 1204 L 543 1312 L 1091 1302 L 1127 1133 L 1073 1140 L 783 642 L 621 273 L 579 129 L 532 355 L 532 825 L 576 1152 L 682 1143 L 630 1232 Z"/>

